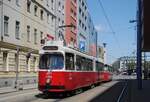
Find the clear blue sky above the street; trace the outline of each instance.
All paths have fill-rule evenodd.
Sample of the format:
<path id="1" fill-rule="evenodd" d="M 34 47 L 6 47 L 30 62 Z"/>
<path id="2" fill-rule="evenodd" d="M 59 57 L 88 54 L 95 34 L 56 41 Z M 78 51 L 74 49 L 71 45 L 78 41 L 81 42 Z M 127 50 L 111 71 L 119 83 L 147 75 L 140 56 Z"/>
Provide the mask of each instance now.
<path id="1" fill-rule="evenodd" d="M 98 43 L 107 43 L 107 63 L 121 56 L 131 56 L 136 49 L 136 0 L 101 0 L 115 37 L 104 17 L 98 0 L 87 0 L 93 23 L 98 30 Z M 116 41 L 117 39 L 117 41 Z"/>

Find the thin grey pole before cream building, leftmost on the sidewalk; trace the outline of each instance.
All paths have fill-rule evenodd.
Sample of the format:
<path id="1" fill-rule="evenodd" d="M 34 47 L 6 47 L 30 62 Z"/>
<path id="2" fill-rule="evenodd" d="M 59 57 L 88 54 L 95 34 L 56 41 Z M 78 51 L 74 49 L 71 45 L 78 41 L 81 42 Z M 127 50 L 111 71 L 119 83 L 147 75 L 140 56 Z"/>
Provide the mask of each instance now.
<path id="1" fill-rule="evenodd" d="M 17 65 L 16 65 L 16 80 L 15 80 L 15 88 L 17 89 L 18 88 L 18 76 L 19 76 L 19 47 L 17 47 L 17 59 L 16 59 L 16 62 L 17 62 Z"/>

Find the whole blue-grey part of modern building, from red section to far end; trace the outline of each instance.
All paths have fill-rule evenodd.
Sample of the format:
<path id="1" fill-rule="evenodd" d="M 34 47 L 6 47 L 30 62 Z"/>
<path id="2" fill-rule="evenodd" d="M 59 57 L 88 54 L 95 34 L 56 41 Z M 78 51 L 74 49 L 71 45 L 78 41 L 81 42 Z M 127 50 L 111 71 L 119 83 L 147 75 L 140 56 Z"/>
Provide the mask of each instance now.
<path id="1" fill-rule="evenodd" d="M 80 51 L 97 56 L 97 31 L 86 0 L 77 0 L 77 45 Z"/>

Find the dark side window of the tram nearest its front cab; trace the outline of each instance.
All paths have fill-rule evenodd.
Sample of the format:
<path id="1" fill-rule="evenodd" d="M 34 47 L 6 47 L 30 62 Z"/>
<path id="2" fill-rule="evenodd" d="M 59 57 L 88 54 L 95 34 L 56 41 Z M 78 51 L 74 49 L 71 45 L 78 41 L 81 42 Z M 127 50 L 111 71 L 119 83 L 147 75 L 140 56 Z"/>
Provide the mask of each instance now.
<path id="1" fill-rule="evenodd" d="M 74 70 L 74 54 L 66 53 L 66 70 Z"/>

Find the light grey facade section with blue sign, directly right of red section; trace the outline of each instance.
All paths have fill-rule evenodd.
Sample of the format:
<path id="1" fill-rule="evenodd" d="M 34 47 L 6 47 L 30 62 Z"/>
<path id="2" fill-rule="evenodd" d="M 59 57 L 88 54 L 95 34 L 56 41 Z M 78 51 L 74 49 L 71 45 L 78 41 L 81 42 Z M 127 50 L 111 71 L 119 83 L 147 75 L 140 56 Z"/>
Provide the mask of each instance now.
<path id="1" fill-rule="evenodd" d="M 77 0 L 77 45 L 80 51 L 89 50 L 88 9 L 86 0 Z"/>

